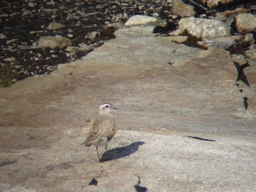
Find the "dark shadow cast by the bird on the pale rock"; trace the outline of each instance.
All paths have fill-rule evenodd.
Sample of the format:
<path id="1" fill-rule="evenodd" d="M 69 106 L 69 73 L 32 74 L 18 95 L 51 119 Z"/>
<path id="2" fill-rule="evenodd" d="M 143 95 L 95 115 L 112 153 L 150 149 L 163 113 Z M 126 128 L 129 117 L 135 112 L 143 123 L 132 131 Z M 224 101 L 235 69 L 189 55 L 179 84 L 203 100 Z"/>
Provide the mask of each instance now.
<path id="1" fill-rule="evenodd" d="M 139 146 L 144 143 L 145 142 L 133 142 L 132 144 L 129 144 L 128 146 L 123 146 L 123 147 L 107 150 L 107 159 L 105 159 L 105 153 L 104 153 L 104 154 L 102 154 L 102 157 L 100 158 L 100 162 L 111 161 L 114 159 L 123 158 L 124 156 L 129 156 L 130 154 L 133 154 L 136 151 L 138 151 Z"/>

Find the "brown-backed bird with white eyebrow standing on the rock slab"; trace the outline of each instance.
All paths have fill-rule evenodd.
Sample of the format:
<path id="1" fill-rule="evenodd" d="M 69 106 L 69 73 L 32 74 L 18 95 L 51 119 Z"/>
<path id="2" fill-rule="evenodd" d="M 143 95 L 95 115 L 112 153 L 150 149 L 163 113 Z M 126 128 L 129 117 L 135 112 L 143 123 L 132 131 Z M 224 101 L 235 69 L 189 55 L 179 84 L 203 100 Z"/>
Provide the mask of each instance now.
<path id="1" fill-rule="evenodd" d="M 100 161 L 98 146 L 105 146 L 105 159 L 107 159 L 107 144 L 110 139 L 114 137 L 117 132 L 117 127 L 115 125 L 114 116 L 111 114 L 111 110 L 118 110 L 116 107 L 108 102 L 100 105 L 100 113 L 97 114 L 95 119 L 92 119 L 87 127 L 85 146 L 95 146 L 97 151 L 97 156 Z"/>

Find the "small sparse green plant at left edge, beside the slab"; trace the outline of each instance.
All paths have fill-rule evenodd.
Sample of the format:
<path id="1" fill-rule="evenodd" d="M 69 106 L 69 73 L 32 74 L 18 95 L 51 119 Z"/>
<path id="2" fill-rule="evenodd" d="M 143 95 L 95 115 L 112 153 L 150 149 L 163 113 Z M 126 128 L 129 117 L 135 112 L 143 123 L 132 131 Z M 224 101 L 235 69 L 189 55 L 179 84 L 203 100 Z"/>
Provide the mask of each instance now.
<path id="1" fill-rule="evenodd" d="M 0 87 L 9 87 L 11 82 L 11 70 L 13 66 L 10 63 L 2 64 L 0 70 Z"/>

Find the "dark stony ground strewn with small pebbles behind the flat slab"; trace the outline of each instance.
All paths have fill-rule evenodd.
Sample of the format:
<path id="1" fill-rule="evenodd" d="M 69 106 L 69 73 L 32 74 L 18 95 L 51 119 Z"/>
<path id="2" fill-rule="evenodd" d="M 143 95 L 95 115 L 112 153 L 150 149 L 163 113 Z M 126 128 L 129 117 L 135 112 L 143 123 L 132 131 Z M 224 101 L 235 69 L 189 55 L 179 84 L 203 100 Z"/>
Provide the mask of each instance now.
<path id="1" fill-rule="evenodd" d="M 84 58 L 94 48 L 102 46 L 114 38 L 118 23 L 124 23 L 130 16 L 144 14 L 156 16 L 169 21 L 166 28 L 156 28 L 158 35 L 164 35 L 176 29 L 179 17 L 171 14 L 171 1 L 1 1 L 0 2 L 0 62 L 11 63 L 13 82 L 23 80 L 33 75 L 51 73 L 58 68 L 59 63 Z M 191 4 L 191 1 L 184 1 Z M 196 1 L 200 2 L 200 1 Z M 198 9 L 197 16 L 212 16 L 220 11 L 233 10 L 244 6 L 251 13 L 256 11 L 253 1 L 238 1 L 235 4 L 220 6 L 216 9 Z M 49 30 L 49 23 L 62 23 L 64 28 Z M 116 23 L 117 25 L 112 25 Z M 87 33 L 98 31 L 95 38 L 87 38 Z M 89 49 L 70 54 L 66 47 L 38 48 L 23 50 L 18 46 L 38 44 L 41 36 L 60 35 L 70 38 L 73 46 L 85 43 Z M 196 46 L 193 38 L 186 42 Z M 230 48 L 232 53 L 242 53 L 245 47 Z M 6 58 L 9 58 L 6 60 Z"/>

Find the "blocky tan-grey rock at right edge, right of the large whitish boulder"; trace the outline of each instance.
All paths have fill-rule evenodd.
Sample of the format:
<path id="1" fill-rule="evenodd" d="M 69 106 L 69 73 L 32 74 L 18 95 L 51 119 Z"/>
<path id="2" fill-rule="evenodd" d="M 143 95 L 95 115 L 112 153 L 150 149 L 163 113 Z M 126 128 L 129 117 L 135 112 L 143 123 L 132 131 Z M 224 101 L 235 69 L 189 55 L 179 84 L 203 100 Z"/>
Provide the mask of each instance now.
<path id="1" fill-rule="evenodd" d="M 235 23 L 240 33 L 256 31 L 256 16 L 252 14 L 238 14 Z"/>

